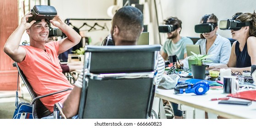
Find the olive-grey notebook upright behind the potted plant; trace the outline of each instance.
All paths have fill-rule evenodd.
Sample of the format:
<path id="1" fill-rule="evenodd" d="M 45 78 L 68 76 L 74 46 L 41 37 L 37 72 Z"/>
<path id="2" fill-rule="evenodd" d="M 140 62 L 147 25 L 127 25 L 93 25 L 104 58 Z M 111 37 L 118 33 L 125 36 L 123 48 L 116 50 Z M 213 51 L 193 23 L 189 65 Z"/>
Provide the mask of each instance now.
<path id="1" fill-rule="evenodd" d="M 196 54 L 201 54 L 201 48 L 200 48 L 200 45 L 196 45 L 196 44 L 187 44 L 186 45 L 186 49 L 187 49 L 187 56 L 191 56 L 193 55 L 191 53 L 191 51 L 193 53 L 196 53 Z M 190 60 L 188 59 L 188 65 L 189 65 L 189 69 L 191 70 L 191 64 L 196 64 L 196 61 L 195 60 Z"/>

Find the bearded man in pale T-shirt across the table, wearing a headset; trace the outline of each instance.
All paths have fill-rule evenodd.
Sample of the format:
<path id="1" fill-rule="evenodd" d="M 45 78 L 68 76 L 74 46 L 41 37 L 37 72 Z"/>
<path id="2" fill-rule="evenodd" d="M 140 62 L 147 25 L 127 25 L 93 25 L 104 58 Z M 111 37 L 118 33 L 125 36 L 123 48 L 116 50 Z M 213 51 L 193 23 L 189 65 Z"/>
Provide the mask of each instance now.
<path id="1" fill-rule="evenodd" d="M 187 57 L 186 44 L 193 44 L 188 37 L 181 37 L 182 22 L 177 17 L 169 17 L 164 20 L 165 25 L 173 25 L 174 31 L 167 33 L 168 37 L 163 44 L 161 55 L 163 59 L 168 60 L 168 56 L 176 54 L 179 60 Z"/>

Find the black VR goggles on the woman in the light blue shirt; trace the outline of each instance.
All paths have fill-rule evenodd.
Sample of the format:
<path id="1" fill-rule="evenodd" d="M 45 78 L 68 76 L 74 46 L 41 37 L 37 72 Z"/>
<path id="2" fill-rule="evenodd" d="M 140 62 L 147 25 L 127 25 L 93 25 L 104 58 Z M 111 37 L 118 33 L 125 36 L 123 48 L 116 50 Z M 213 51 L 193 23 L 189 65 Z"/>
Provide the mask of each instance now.
<path id="1" fill-rule="evenodd" d="M 215 29 L 215 27 L 218 26 L 218 23 L 207 22 L 209 16 L 210 15 L 205 15 L 203 17 L 203 23 L 195 25 L 196 33 L 209 33 L 212 32 Z"/>

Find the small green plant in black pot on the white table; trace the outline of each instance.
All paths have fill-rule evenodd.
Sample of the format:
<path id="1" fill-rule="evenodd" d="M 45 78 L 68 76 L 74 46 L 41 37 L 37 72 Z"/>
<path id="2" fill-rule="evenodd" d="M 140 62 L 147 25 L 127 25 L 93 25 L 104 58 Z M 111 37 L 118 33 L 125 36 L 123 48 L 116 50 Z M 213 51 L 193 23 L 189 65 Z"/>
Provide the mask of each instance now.
<path id="1" fill-rule="evenodd" d="M 191 52 L 193 55 L 189 56 L 188 59 L 195 60 L 196 64 L 191 64 L 192 75 L 194 79 L 202 79 L 205 78 L 205 68 L 206 65 L 204 62 L 212 62 L 212 60 L 207 60 L 212 55 L 201 55 Z"/>

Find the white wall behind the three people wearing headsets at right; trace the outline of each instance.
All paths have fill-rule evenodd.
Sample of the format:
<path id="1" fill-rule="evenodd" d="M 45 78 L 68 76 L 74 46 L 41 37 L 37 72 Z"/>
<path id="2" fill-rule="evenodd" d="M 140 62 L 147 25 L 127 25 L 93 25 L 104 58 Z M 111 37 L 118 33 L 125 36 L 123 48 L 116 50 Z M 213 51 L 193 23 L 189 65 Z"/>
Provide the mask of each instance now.
<path id="1" fill-rule="evenodd" d="M 177 16 L 182 21 L 182 36 L 199 37 L 194 26 L 205 14 L 215 14 L 218 20 L 231 18 L 236 12 L 250 12 L 256 9 L 256 0 L 157 0 L 158 11 L 163 19 Z M 160 13 L 160 12 L 159 12 Z M 158 18 L 160 22 L 163 21 Z M 219 22 L 218 22 L 219 23 Z M 223 37 L 231 37 L 230 31 L 218 30 Z"/>

